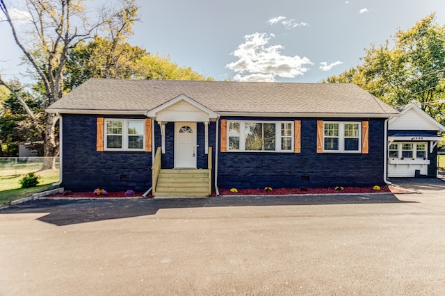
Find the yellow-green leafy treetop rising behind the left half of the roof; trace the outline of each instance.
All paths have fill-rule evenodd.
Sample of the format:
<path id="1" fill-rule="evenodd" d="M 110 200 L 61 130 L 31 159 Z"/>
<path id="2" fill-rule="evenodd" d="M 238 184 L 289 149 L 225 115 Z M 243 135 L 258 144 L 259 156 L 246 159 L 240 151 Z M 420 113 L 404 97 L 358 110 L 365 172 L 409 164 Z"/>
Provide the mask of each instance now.
<path id="1" fill-rule="evenodd" d="M 179 67 L 170 57 L 163 58 L 131 46 L 124 38 L 113 42 L 99 37 L 70 49 L 64 76 L 66 90 L 90 78 L 213 80 L 190 67 Z"/>

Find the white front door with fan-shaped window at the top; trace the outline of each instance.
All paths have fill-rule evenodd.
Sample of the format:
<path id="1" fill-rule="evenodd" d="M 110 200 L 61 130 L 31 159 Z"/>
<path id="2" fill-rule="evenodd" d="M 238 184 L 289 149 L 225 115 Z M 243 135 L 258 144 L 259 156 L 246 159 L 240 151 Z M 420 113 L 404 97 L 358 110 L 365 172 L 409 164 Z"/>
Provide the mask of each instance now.
<path id="1" fill-rule="evenodd" d="M 175 168 L 196 168 L 196 122 L 175 122 Z"/>

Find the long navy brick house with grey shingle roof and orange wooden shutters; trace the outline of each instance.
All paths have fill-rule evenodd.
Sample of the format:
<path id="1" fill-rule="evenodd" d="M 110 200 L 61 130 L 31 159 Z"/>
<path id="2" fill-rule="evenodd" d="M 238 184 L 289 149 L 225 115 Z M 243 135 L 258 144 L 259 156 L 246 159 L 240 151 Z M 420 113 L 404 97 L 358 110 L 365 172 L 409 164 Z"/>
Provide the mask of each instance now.
<path id="1" fill-rule="evenodd" d="M 90 79 L 60 115 L 67 190 L 209 195 L 212 188 L 373 186 L 387 122 L 353 84 Z"/>

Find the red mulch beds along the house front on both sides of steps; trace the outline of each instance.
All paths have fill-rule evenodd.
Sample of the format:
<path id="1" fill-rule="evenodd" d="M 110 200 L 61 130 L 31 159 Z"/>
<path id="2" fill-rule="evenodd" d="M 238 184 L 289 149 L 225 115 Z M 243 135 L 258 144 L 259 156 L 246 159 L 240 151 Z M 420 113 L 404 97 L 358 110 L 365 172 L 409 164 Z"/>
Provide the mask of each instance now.
<path id="1" fill-rule="evenodd" d="M 238 189 L 238 192 L 230 192 L 230 189 L 219 188 L 220 195 L 317 195 L 328 193 L 409 193 L 409 190 L 398 188 L 394 186 L 380 186 L 380 190 L 373 190 L 372 187 L 345 187 L 343 190 L 338 191 L 335 188 L 277 188 L 271 191 L 265 191 L 264 189 Z M 108 195 L 94 195 L 92 192 L 70 192 L 65 191 L 56 195 L 49 195 L 48 197 L 86 197 L 86 198 L 124 198 L 124 197 L 141 197 L 144 192 L 135 192 L 134 195 L 125 195 L 124 191 L 112 191 L 108 192 Z M 213 191 L 211 197 L 215 197 L 216 193 Z M 152 198 L 152 192 L 150 192 L 146 198 Z"/>

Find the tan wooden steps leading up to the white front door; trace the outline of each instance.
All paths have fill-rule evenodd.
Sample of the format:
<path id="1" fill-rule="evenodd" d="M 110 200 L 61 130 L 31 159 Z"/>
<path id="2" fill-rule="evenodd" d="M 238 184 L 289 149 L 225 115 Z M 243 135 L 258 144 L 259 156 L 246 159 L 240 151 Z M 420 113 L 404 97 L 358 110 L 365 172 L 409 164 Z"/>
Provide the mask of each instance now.
<path id="1" fill-rule="evenodd" d="M 211 170 L 161 169 L 154 197 L 207 197 L 211 194 Z"/>

